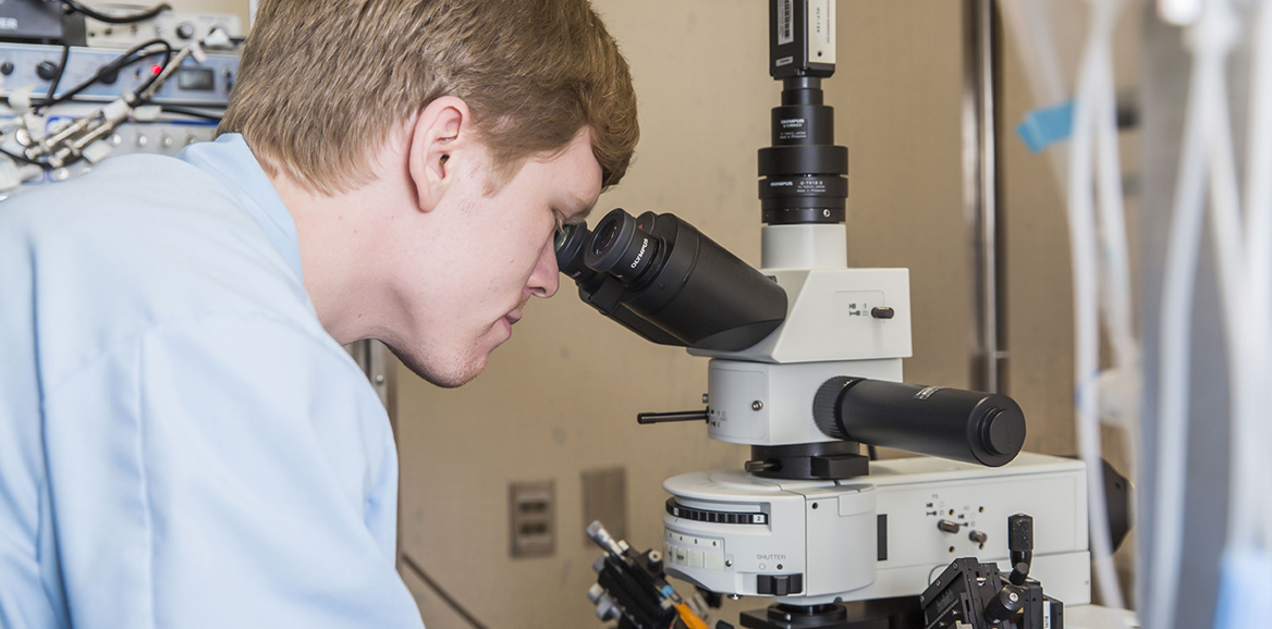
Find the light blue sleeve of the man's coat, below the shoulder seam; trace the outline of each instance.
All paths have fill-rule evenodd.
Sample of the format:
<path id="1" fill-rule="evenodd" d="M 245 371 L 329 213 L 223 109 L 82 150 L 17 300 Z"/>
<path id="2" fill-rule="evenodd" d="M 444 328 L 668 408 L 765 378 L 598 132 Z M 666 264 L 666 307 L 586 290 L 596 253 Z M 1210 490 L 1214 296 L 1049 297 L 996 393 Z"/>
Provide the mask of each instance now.
<path id="1" fill-rule="evenodd" d="M 126 339 L 48 384 L 76 628 L 418 628 L 387 416 L 329 338 L 258 315 Z"/>

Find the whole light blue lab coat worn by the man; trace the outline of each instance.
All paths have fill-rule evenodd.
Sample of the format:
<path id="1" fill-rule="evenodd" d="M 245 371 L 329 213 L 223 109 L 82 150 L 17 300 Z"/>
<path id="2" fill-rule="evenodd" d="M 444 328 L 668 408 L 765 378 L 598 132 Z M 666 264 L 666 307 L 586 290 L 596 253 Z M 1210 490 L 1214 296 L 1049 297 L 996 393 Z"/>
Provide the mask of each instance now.
<path id="1" fill-rule="evenodd" d="M 0 203 L 0 628 L 417 628 L 396 512 L 242 137 Z"/>

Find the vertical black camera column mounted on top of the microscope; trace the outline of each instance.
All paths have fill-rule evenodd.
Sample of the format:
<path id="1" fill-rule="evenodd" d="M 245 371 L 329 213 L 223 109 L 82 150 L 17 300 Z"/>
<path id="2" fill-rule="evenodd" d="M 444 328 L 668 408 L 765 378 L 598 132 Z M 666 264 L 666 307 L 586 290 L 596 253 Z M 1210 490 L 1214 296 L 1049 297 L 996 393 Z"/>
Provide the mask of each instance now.
<path id="1" fill-rule="evenodd" d="M 837 224 L 848 197 L 848 150 L 834 145 L 822 79 L 834 74 L 834 1 L 770 0 L 770 74 L 782 81 L 772 146 L 759 150 L 767 225 Z"/>

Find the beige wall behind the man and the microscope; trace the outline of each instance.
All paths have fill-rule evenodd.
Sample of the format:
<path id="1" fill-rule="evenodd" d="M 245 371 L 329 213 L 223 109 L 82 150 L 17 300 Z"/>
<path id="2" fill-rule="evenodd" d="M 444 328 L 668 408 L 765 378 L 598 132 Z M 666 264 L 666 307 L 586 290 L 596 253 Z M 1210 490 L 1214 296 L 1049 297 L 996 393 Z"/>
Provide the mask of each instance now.
<path id="1" fill-rule="evenodd" d="M 758 263 L 756 150 L 778 86 L 766 72 L 763 3 L 598 1 L 641 98 L 637 161 L 598 212 L 670 211 Z M 960 170 L 960 6 L 840 3 L 838 72 L 827 85 L 850 150 L 850 264 L 911 268 L 915 356 L 907 379 L 968 386 L 972 302 Z M 1009 67 L 1009 72 L 1011 69 Z M 1024 90 L 1009 75 L 1011 90 Z M 1024 105 L 1007 99 L 1019 119 Z M 1033 450 L 1072 452 L 1071 315 L 1062 207 L 1042 159 L 1011 137 L 1004 200 L 1009 367 Z M 1018 212 L 1020 216 L 1018 216 Z M 640 410 L 701 408 L 706 366 L 603 319 L 572 286 L 536 302 L 477 381 L 440 390 L 399 376 L 404 550 L 492 629 L 594 628 L 584 592 L 597 550 L 583 541 L 580 473 L 626 466 L 628 541 L 659 543 L 667 477 L 736 466 L 740 446 L 698 424 L 644 426 Z M 508 484 L 555 480 L 557 549 L 509 558 Z M 413 576 L 425 623 L 464 626 Z M 752 600 L 726 607 L 763 605 Z"/>

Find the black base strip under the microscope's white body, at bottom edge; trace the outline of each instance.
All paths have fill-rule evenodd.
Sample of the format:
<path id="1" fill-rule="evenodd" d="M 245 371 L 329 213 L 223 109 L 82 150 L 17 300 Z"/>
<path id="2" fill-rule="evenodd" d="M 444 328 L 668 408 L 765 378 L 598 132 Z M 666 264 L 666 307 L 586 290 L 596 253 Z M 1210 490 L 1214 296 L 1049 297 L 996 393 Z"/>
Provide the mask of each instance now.
<path id="1" fill-rule="evenodd" d="M 831 605 L 770 605 L 743 611 L 749 629 L 911 629 L 923 625 L 917 596 L 836 602 Z"/>

